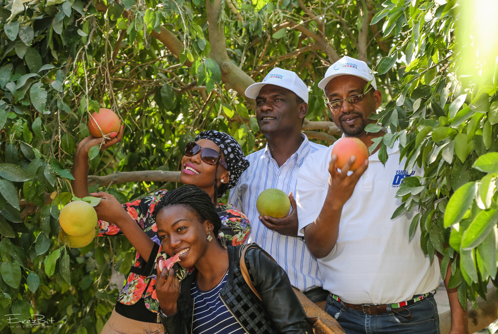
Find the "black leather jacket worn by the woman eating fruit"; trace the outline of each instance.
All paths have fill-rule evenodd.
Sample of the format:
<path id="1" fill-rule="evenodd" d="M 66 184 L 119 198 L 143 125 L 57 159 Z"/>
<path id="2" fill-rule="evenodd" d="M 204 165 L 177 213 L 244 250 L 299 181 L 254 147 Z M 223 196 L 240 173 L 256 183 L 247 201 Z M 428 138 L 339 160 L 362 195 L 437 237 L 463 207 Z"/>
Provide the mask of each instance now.
<path id="1" fill-rule="evenodd" d="M 228 280 L 220 298 L 248 334 L 313 334 L 306 314 L 297 299 L 285 271 L 261 249 L 250 249 L 246 263 L 252 283 L 261 300 L 252 292 L 240 270 L 241 246 L 229 246 Z M 178 312 L 160 315 L 166 334 L 191 334 L 194 300 L 190 287 L 195 272 L 180 283 Z"/>

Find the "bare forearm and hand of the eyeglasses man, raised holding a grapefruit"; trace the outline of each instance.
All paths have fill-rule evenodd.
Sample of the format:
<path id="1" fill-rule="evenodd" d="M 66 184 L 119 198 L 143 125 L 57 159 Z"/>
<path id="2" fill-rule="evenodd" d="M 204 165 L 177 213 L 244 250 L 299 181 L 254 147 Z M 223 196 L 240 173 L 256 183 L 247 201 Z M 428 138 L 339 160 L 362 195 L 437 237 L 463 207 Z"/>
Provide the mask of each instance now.
<path id="1" fill-rule="evenodd" d="M 367 170 L 368 160 L 348 176 L 348 171 L 355 160 L 355 157 L 351 157 L 341 172 L 335 166 L 337 156 L 333 155 L 330 160 L 329 189 L 325 203 L 315 221 L 304 228 L 306 246 L 316 258 L 327 256 L 336 246 L 342 208 L 353 195 L 356 183 Z"/>

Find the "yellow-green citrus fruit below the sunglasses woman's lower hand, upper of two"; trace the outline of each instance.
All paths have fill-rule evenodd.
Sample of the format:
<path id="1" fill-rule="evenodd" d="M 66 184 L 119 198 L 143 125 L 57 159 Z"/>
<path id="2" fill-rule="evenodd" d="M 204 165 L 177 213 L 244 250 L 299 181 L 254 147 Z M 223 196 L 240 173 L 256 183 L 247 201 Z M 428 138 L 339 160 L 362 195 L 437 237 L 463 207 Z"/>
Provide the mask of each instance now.
<path id="1" fill-rule="evenodd" d="M 71 237 L 83 237 L 95 232 L 97 212 L 90 203 L 74 201 L 62 208 L 59 223 L 64 232 Z"/>

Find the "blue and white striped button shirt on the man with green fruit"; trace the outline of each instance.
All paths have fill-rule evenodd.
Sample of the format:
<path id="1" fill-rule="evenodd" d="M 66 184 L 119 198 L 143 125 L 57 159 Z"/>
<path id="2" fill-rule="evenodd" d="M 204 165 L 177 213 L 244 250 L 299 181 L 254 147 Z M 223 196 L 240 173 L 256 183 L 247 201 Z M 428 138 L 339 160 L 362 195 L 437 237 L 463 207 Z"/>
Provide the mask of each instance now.
<path id="1" fill-rule="evenodd" d="M 297 173 L 312 153 L 327 147 L 312 143 L 304 135 L 299 149 L 282 166 L 271 157 L 268 145 L 247 157 L 250 165 L 236 186 L 230 189 L 229 203 L 244 212 L 251 225 L 248 243 L 256 243 L 267 251 L 289 276 L 290 283 L 301 291 L 323 286 L 316 258 L 300 238 L 283 236 L 261 223 L 256 210 L 257 196 L 265 189 L 277 188 L 295 197 Z"/>

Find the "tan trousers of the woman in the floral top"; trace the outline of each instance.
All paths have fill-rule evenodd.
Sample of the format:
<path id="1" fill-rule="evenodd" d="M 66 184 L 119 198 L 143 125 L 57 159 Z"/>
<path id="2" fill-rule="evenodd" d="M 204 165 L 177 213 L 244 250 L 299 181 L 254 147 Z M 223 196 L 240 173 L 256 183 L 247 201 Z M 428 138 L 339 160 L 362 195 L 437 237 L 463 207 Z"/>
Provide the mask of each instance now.
<path id="1" fill-rule="evenodd" d="M 162 324 L 145 323 L 126 318 L 113 310 L 100 334 L 164 334 Z"/>

